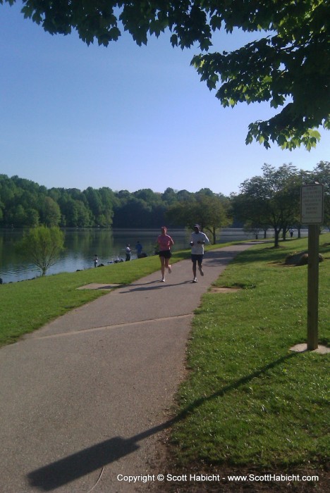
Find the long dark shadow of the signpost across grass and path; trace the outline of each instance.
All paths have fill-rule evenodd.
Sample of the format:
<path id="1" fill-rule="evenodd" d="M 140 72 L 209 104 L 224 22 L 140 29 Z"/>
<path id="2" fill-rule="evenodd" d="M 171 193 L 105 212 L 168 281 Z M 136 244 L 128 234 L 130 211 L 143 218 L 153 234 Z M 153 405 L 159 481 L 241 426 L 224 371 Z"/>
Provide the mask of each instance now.
<path id="1" fill-rule="evenodd" d="M 268 370 L 275 368 L 289 358 L 295 358 L 297 356 L 298 353 L 282 356 L 276 361 L 272 361 L 268 365 L 263 366 L 259 370 L 256 370 L 255 372 L 250 373 L 245 377 L 241 377 L 235 382 L 222 387 L 219 391 L 214 392 L 214 394 L 196 399 L 192 404 L 178 413 L 177 416 L 161 423 L 160 425 L 149 428 L 149 430 L 145 430 L 138 435 L 134 435 L 133 437 L 127 439 L 122 437 L 113 437 L 99 444 L 95 444 L 92 447 L 79 451 L 76 454 L 61 458 L 59 461 L 50 463 L 47 466 L 33 470 L 27 475 L 30 486 L 39 489 L 39 491 L 51 491 L 77 480 L 78 478 L 82 478 L 89 473 L 99 470 L 114 461 L 118 461 L 118 459 L 123 456 L 133 454 L 133 452 L 140 448 L 138 442 L 141 442 L 143 439 L 166 430 L 167 428 L 171 428 L 171 426 L 181 420 L 184 420 L 206 402 L 223 397 L 228 392 L 238 389 L 241 385 L 245 385 L 254 378 L 260 377 L 264 373 L 267 373 Z"/>

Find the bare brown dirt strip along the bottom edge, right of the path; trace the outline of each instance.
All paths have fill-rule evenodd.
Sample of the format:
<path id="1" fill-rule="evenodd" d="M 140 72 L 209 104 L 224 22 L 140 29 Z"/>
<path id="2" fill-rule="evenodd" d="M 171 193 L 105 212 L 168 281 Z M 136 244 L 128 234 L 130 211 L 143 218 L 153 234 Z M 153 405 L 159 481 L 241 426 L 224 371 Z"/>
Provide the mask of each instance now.
<path id="1" fill-rule="evenodd" d="M 150 482 L 137 489 L 138 492 L 150 493 L 325 493 L 329 491 L 329 470 L 319 465 L 297 466 L 287 470 L 285 467 L 260 469 L 256 466 L 222 466 L 214 464 L 207 466 L 205 463 L 192 462 L 187 466 L 179 466 L 174 459 L 175 453 L 169 444 L 170 431 L 162 432 L 159 439 L 159 454 L 150 463 L 155 477 L 159 472 L 164 475 L 164 481 Z M 169 476 L 171 475 L 171 480 Z M 209 480 L 197 476 L 209 476 Z M 251 480 L 251 476 L 260 480 Z M 269 475 L 267 477 L 267 475 Z M 277 478 L 271 477 L 277 476 Z M 279 478 L 279 475 L 286 478 Z M 215 477 L 217 476 L 217 478 Z M 240 476 L 236 480 L 231 476 Z M 243 476 L 246 476 L 245 480 Z M 305 476 L 306 480 L 302 481 Z M 307 480 L 307 477 L 309 480 Z M 314 478 L 312 478 L 314 476 Z M 315 476 L 318 476 L 315 478 Z M 176 477 L 176 480 L 172 479 Z M 262 477 L 262 478 L 261 478 Z M 299 480 L 298 480 L 299 478 Z M 253 479 L 253 478 L 252 478 Z M 281 480 L 279 480 L 281 479 Z"/>

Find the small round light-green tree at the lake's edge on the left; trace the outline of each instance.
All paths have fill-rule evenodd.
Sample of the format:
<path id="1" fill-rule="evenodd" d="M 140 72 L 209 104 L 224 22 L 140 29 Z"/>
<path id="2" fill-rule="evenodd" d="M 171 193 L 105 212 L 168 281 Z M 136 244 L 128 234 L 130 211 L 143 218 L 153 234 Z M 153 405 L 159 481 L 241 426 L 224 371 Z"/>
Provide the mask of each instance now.
<path id="1" fill-rule="evenodd" d="M 27 261 L 33 263 L 46 275 L 49 267 L 59 260 L 64 250 L 64 234 L 59 227 L 32 227 L 16 246 Z"/>

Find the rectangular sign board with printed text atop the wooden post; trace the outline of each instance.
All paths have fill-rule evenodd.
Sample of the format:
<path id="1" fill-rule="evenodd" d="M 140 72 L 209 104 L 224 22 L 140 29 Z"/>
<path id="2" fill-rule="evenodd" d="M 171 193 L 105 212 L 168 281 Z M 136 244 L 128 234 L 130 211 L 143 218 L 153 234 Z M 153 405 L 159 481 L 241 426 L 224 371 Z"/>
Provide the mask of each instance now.
<path id="1" fill-rule="evenodd" d="M 300 216 L 302 224 L 323 223 L 323 185 L 302 185 Z"/>

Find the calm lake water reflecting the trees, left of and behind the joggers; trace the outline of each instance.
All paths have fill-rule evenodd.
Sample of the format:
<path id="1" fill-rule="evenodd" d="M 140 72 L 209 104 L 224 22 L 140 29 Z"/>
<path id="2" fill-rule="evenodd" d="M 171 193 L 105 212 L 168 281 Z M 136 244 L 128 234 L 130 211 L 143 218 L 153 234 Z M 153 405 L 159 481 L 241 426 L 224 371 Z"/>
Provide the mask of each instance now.
<path id="1" fill-rule="evenodd" d="M 139 240 L 143 251 L 154 254 L 159 230 L 65 230 L 66 250 L 56 265 L 49 268 L 47 275 L 61 272 L 75 272 L 94 267 L 94 254 L 99 263 L 105 266 L 117 258 L 125 258 L 126 244 L 132 249 L 132 259 L 136 258 L 135 244 Z M 15 251 L 15 243 L 23 235 L 23 230 L 0 230 L 0 277 L 4 283 L 31 279 L 40 275 L 39 270 L 24 261 Z M 169 230 L 175 245 L 173 251 L 188 248 L 190 231 Z M 270 236 L 270 235 L 269 235 Z M 224 228 L 216 241 L 225 243 L 236 240 L 253 239 L 253 235 L 238 228 Z"/>

